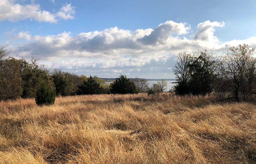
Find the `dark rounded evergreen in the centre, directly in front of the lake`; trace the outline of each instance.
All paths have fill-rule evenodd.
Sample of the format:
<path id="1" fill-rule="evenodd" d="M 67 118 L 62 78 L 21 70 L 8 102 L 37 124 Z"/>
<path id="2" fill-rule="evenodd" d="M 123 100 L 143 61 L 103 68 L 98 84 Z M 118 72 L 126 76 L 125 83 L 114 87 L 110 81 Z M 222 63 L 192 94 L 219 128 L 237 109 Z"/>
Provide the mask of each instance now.
<path id="1" fill-rule="evenodd" d="M 138 93 L 136 85 L 130 79 L 127 79 L 126 75 L 120 75 L 115 82 L 111 83 L 110 87 L 113 94 Z"/>

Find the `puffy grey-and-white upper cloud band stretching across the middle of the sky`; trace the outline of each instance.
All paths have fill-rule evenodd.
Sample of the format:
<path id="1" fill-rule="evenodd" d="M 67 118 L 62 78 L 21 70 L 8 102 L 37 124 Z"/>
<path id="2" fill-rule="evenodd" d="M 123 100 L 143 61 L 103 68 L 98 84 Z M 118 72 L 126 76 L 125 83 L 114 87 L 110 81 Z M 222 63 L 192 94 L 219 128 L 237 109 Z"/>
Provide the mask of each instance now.
<path id="1" fill-rule="evenodd" d="M 16 53 L 26 52 L 28 56 L 38 55 L 42 58 L 79 57 L 79 58 L 139 58 L 143 56 L 162 56 L 177 54 L 184 50 L 191 52 L 197 48 L 215 48 L 223 51 L 227 46 L 246 43 L 255 45 L 255 37 L 247 40 L 233 40 L 218 44 L 214 36 L 214 27 L 224 26 L 224 22 L 205 21 L 197 25 L 198 31 L 193 39 L 181 38 L 188 34 L 190 27 L 186 23 L 167 21 L 155 29 L 138 29 L 134 32 L 117 27 L 102 31 L 82 32 L 71 36 L 63 32 L 49 36 L 31 36 L 20 32 L 16 38 L 25 38 L 30 42 L 16 48 Z M 178 35 L 178 36 L 175 36 Z"/>

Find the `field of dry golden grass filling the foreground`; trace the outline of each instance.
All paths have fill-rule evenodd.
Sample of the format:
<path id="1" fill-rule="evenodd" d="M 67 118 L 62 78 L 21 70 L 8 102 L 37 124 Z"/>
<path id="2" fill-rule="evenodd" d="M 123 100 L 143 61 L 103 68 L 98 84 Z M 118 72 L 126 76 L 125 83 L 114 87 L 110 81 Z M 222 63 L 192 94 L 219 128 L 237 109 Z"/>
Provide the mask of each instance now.
<path id="1" fill-rule="evenodd" d="M 0 164 L 256 163 L 256 105 L 172 94 L 0 102 Z"/>

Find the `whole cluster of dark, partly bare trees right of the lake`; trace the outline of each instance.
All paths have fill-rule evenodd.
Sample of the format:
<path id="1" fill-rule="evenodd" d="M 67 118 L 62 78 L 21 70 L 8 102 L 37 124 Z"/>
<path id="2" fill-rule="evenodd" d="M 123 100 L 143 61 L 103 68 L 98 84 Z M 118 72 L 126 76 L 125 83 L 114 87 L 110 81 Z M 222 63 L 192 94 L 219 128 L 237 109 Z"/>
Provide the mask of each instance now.
<path id="1" fill-rule="evenodd" d="M 230 47 L 222 55 L 199 49 L 177 55 L 173 73 L 179 95 L 213 93 L 217 100 L 253 101 L 256 97 L 256 58 L 248 45 Z"/>

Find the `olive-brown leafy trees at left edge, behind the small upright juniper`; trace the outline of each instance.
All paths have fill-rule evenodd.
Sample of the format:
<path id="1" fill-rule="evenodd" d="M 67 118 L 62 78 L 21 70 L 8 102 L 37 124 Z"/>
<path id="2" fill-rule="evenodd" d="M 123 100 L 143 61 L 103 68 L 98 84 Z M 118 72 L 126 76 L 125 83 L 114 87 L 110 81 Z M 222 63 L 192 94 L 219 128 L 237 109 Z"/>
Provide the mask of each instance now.
<path id="1" fill-rule="evenodd" d="M 0 60 L 0 99 L 34 98 L 41 82 L 51 82 L 47 71 L 39 68 L 36 61 L 12 57 Z"/>

